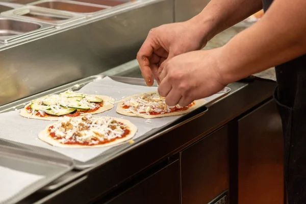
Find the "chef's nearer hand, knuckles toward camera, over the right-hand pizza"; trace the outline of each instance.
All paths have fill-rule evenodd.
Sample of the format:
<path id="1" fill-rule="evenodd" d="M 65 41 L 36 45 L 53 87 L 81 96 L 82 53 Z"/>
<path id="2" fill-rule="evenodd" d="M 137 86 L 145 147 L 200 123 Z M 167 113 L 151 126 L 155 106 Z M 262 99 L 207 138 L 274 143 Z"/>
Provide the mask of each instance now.
<path id="1" fill-rule="evenodd" d="M 193 100 L 211 96 L 222 90 L 220 50 L 185 53 L 162 65 L 158 92 L 169 106 L 188 106 Z"/>

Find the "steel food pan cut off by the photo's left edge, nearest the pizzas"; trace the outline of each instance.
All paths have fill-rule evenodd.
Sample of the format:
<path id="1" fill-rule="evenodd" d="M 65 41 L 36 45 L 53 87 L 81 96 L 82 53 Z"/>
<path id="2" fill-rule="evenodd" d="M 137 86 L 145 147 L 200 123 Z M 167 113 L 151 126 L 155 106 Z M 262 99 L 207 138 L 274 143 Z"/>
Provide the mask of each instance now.
<path id="1" fill-rule="evenodd" d="M 0 17 L 0 43 L 10 43 L 54 28 L 45 23 Z"/>

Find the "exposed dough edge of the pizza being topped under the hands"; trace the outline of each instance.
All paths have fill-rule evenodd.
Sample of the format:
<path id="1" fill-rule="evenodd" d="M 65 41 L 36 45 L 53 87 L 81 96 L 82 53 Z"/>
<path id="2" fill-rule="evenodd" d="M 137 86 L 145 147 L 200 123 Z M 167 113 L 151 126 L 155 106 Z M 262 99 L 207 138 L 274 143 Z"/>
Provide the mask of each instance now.
<path id="1" fill-rule="evenodd" d="M 194 104 L 191 107 L 188 107 L 187 110 L 179 110 L 179 111 L 174 111 L 174 112 L 170 112 L 170 113 L 165 112 L 163 114 L 154 114 L 154 115 L 147 114 L 147 113 L 137 113 L 137 111 L 130 112 L 128 109 L 123 108 L 124 101 L 130 100 L 131 98 L 136 99 L 138 97 L 143 97 L 145 94 L 146 95 L 151 95 L 152 94 L 152 95 L 156 96 L 156 100 L 163 101 L 164 102 L 163 106 L 165 106 L 165 99 L 163 97 L 161 97 L 162 99 L 158 98 L 160 96 L 159 96 L 157 91 L 148 92 L 148 93 L 132 95 L 132 96 L 129 96 L 129 97 L 126 97 L 126 98 L 123 98 L 122 100 L 120 100 L 119 103 L 117 104 L 117 109 L 116 109 L 117 113 L 119 113 L 121 115 L 133 116 L 133 117 L 142 117 L 142 118 L 147 118 L 147 119 L 158 118 L 158 117 L 169 117 L 169 116 L 183 115 L 183 114 L 189 113 L 189 112 L 195 110 L 196 108 L 198 108 L 198 107 L 200 107 L 200 106 L 202 106 L 203 104 L 206 103 L 205 99 L 199 99 L 199 100 L 195 100 L 193 102 Z M 134 103 L 142 103 L 142 101 L 135 101 Z M 143 103 L 144 103 L 144 101 L 143 101 Z M 152 105 L 152 106 L 154 106 L 154 105 Z M 185 108 L 185 107 L 182 107 L 182 108 Z"/>

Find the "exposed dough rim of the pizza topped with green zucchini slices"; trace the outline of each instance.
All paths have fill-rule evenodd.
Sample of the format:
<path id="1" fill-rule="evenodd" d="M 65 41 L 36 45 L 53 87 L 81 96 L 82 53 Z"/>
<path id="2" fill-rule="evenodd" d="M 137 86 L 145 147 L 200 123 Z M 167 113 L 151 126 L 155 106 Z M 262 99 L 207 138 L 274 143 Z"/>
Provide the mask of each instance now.
<path id="1" fill-rule="evenodd" d="M 113 104 L 113 99 L 110 98 L 109 96 L 104 96 L 104 95 L 89 95 L 89 96 L 93 96 L 93 97 L 98 97 L 100 99 L 103 100 L 103 106 L 99 107 L 97 110 L 95 111 L 91 111 L 90 114 L 98 114 L 98 113 L 103 113 L 105 111 L 108 111 L 112 108 L 114 108 L 114 104 Z M 65 115 L 62 116 L 53 116 L 53 115 L 47 115 L 46 117 L 40 117 L 37 116 L 35 114 L 32 114 L 32 112 L 28 112 L 27 108 L 29 106 L 31 106 L 32 102 L 29 103 L 28 105 L 26 105 L 23 109 L 20 110 L 20 115 L 26 118 L 31 118 L 31 119 L 40 119 L 40 120 L 51 120 L 51 121 L 55 121 L 55 120 L 59 120 L 62 117 L 64 117 Z M 81 110 L 78 110 L 81 111 Z M 81 111 L 82 113 L 80 114 L 80 116 L 87 114 L 86 111 Z M 83 113 L 84 112 L 84 113 Z"/>

